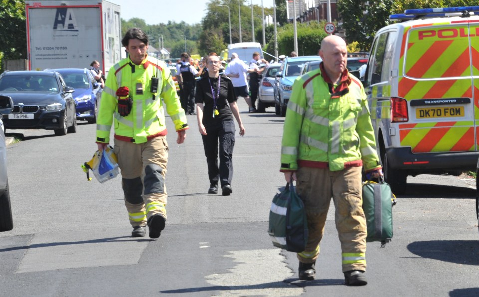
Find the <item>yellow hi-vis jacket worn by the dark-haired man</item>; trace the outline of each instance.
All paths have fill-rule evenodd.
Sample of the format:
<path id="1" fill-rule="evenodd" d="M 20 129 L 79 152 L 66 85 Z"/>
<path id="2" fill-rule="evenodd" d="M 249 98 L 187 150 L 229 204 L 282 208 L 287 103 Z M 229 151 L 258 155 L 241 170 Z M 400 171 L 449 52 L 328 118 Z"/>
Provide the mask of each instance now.
<path id="1" fill-rule="evenodd" d="M 157 93 L 151 93 L 153 77 L 158 78 Z M 133 99 L 127 116 L 121 116 L 117 109 L 116 91 L 124 86 L 128 87 Z M 115 64 L 108 73 L 100 99 L 97 142 L 110 142 L 113 121 L 115 138 L 118 139 L 144 143 L 153 137 L 166 135 L 162 98 L 176 131 L 188 129 L 185 111 L 181 108 L 170 70 L 164 62 L 147 56 L 140 65 L 135 65 L 129 57 Z"/>

